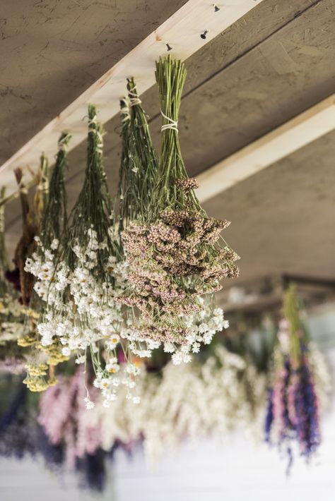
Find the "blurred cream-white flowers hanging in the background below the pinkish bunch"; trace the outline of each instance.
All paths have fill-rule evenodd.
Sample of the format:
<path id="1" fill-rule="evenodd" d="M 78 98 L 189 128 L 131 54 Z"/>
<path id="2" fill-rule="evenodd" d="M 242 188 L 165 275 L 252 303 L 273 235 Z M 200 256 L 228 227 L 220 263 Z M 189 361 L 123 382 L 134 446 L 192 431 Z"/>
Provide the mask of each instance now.
<path id="1" fill-rule="evenodd" d="M 171 362 L 163 378 L 143 372 L 138 393 L 141 406 L 134 408 L 122 391 L 110 409 L 98 402 L 86 415 L 88 423 L 100 423 L 105 450 L 118 441 L 128 445 L 143 438 L 153 465 L 185 439 L 224 438 L 236 429 L 253 436 L 258 430 L 261 438 L 266 376 L 223 346 L 203 366 L 192 362 L 175 367 Z"/>

